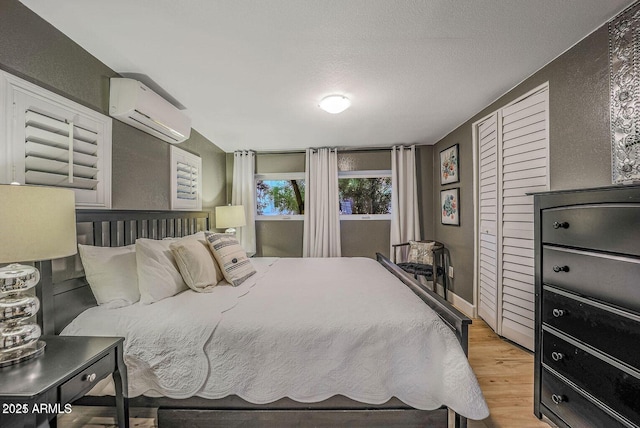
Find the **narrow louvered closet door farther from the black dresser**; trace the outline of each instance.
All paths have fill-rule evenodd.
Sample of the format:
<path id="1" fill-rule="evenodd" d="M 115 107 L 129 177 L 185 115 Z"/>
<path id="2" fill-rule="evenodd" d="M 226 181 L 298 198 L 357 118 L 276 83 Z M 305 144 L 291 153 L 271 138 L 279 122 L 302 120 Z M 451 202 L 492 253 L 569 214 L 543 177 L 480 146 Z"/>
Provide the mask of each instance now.
<path id="1" fill-rule="evenodd" d="M 479 162 L 478 314 L 498 327 L 498 123 L 497 115 L 477 125 Z"/>

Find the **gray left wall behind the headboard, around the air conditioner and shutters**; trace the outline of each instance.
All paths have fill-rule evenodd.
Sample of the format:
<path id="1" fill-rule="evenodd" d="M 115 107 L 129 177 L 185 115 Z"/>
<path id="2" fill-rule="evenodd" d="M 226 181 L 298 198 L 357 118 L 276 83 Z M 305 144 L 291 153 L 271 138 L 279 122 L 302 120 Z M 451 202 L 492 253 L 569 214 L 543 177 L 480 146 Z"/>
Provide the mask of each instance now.
<path id="1" fill-rule="evenodd" d="M 108 115 L 118 74 L 17 0 L 0 2 L 0 40 L 1 69 Z M 112 144 L 113 208 L 169 209 L 169 144 L 117 120 Z M 223 205 L 224 152 L 195 131 L 179 147 L 202 158 L 203 209 Z"/>

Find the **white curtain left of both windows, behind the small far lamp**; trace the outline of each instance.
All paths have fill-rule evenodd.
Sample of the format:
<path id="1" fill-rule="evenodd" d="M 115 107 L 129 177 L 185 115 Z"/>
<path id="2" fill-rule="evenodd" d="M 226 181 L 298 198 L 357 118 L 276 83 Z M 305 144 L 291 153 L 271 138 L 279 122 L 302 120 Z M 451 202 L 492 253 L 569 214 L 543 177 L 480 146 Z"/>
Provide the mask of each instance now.
<path id="1" fill-rule="evenodd" d="M 256 154 L 252 151 L 237 151 L 233 154 L 233 186 L 231 205 L 242 205 L 247 220 L 239 227 L 236 238 L 247 254 L 256 253 L 256 194 L 253 184 Z"/>

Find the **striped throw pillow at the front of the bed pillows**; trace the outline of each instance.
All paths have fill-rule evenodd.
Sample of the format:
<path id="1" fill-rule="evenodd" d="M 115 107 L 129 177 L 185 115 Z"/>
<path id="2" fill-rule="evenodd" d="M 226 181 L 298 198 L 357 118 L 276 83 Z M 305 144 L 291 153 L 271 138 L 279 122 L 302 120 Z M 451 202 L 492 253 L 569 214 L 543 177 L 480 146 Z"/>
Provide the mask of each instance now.
<path id="1" fill-rule="evenodd" d="M 222 274 L 229 284 L 237 287 L 256 273 L 247 253 L 235 236 L 228 233 L 205 232 L 205 237 L 213 257 L 222 268 Z"/>

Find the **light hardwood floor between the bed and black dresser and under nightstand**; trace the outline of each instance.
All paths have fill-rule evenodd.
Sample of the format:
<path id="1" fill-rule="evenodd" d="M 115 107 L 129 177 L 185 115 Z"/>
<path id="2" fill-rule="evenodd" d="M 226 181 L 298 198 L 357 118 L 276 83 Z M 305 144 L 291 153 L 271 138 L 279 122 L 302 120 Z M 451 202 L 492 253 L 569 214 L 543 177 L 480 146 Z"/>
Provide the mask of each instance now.
<path id="1" fill-rule="evenodd" d="M 533 415 L 533 354 L 500 339 L 480 320 L 469 331 L 469 362 L 480 383 L 491 415 L 469 421 L 469 428 L 549 428 Z M 131 409 L 131 426 L 152 428 L 155 409 Z M 115 427 L 115 411 L 104 407 L 74 406 L 61 415 L 61 428 Z"/>

